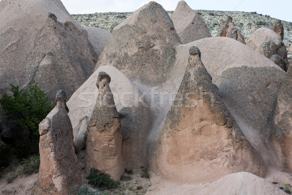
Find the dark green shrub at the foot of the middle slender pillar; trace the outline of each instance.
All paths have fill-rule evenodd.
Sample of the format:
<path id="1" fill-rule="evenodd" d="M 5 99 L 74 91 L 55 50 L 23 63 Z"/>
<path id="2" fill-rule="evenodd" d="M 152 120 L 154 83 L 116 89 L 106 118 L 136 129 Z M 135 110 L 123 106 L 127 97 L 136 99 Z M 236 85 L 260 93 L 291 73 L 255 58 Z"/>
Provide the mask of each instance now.
<path id="1" fill-rule="evenodd" d="M 112 189 L 119 185 L 118 182 L 115 182 L 110 178 L 109 174 L 101 172 L 95 168 L 90 169 L 90 174 L 86 178 L 89 179 L 88 183 L 96 188 Z"/>

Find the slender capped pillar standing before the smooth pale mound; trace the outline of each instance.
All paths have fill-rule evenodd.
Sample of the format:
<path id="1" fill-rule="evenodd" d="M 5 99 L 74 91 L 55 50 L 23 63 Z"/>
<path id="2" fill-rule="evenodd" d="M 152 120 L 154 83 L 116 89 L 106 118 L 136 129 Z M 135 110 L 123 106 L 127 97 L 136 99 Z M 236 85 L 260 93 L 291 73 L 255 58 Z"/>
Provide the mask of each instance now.
<path id="1" fill-rule="evenodd" d="M 118 181 L 124 174 L 122 130 L 118 111 L 110 90 L 110 76 L 99 72 L 99 90 L 86 139 L 86 171 L 96 168 Z"/>

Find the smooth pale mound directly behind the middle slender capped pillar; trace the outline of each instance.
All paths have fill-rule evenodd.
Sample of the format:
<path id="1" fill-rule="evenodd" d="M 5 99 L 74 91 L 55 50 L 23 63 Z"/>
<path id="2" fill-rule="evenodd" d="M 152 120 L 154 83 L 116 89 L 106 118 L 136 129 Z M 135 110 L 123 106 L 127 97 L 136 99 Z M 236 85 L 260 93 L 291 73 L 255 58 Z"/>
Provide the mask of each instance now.
<path id="1" fill-rule="evenodd" d="M 146 166 L 147 134 L 151 128 L 148 105 L 143 94 L 121 71 L 113 66 L 99 67 L 68 101 L 69 117 L 73 125 L 74 143 L 77 151 L 85 148 L 84 134 L 98 96 L 95 85 L 98 73 L 109 73 L 110 89 L 114 95 L 121 118 L 125 167 Z"/>

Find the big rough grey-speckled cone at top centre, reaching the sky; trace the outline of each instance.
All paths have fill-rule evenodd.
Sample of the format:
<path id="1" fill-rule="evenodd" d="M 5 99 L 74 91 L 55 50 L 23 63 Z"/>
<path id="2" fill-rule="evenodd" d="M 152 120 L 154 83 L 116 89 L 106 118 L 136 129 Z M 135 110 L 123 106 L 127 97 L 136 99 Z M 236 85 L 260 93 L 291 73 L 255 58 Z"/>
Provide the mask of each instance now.
<path id="1" fill-rule="evenodd" d="M 168 78 L 179 43 L 172 20 L 151 1 L 113 29 L 97 67 L 112 65 L 132 81 L 153 86 Z"/>

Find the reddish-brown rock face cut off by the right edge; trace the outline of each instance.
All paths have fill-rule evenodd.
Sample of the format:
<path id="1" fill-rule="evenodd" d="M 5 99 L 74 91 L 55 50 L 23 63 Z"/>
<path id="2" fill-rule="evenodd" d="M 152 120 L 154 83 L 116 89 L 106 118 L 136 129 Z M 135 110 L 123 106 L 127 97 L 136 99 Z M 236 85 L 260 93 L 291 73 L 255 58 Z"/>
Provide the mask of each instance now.
<path id="1" fill-rule="evenodd" d="M 278 94 L 273 117 L 275 153 L 280 168 L 292 172 L 292 62 Z"/>

